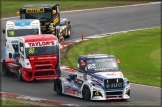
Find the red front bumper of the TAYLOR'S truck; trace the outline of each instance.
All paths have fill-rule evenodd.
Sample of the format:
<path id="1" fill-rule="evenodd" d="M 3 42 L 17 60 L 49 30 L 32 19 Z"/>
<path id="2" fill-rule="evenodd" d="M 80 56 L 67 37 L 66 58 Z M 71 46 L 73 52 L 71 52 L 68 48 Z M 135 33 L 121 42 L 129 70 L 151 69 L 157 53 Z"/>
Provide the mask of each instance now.
<path id="1" fill-rule="evenodd" d="M 29 69 L 20 69 L 22 77 L 25 81 L 35 80 L 50 80 L 58 77 L 55 69 L 44 69 L 44 70 L 29 70 Z"/>

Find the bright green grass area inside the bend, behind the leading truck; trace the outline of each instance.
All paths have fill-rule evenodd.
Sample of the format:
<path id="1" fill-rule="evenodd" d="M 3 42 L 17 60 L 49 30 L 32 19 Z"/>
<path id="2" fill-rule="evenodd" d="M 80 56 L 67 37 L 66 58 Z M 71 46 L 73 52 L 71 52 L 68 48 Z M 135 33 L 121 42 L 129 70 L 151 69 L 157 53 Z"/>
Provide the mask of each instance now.
<path id="1" fill-rule="evenodd" d="M 70 48 L 62 62 L 76 69 L 82 54 L 114 54 L 130 82 L 161 86 L 161 29 L 131 31 L 80 42 Z"/>

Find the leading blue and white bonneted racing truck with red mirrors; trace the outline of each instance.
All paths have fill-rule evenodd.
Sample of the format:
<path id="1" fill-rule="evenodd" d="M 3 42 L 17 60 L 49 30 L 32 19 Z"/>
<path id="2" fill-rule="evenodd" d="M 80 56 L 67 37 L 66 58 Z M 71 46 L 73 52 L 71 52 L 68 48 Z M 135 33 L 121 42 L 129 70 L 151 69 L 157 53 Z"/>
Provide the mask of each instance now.
<path id="1" fill-rule="evenodd" d="M 130 82 L 119 70 L 119 63 L 110 54 L 80 55 L 77 73 L 56 78 L 54 92 L 84 100 L 127 100 Z"/>

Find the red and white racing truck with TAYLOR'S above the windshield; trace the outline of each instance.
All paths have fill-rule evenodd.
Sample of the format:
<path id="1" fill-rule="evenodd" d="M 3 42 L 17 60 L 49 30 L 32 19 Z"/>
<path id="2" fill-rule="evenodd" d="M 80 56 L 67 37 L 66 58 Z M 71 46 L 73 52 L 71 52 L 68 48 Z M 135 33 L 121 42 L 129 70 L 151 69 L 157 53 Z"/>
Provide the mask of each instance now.
<path id="1" fill-rule="evenodd" d="M 16 74 L 18 80 L 55 79 L 61 76 L 60 50 L 52 34 L 27 35 L 18 38 L 18 55 L 9 53 L 3 59 L 4 75 Z"/>

